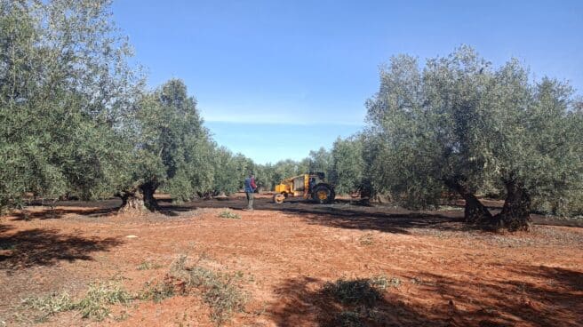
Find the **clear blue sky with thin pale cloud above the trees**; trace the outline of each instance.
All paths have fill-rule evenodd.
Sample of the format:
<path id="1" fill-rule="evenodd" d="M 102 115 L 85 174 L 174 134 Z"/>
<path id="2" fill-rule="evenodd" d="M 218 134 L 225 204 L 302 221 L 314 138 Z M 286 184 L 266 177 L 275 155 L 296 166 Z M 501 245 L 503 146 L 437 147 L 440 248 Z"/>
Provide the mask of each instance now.
<path id="1" fill-rule="evenodd" d="M 359 131 L 398 53 L 469 44 L 583 90 L 583 1 L 118 0 L 113 12 L 150 86 L 183 79 L 214 139 L 261 164 Z"/>

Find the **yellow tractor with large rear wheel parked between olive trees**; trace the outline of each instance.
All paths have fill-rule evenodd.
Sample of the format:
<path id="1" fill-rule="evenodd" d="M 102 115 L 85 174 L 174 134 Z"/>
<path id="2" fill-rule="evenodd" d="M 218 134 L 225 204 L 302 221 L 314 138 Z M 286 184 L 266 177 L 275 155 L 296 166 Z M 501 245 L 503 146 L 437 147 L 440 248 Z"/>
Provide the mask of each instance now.
<path id="1" fill-rule="evenodd" d="M 275 203 L 283 203 L 291 196 L 302 196 L 316 203 L 332 203 L 336 195 L 334 187 L 325 182 L 323 172 L 315 172 L 284 179 L 276 185 L 276 194 L 273 197 Z"/>

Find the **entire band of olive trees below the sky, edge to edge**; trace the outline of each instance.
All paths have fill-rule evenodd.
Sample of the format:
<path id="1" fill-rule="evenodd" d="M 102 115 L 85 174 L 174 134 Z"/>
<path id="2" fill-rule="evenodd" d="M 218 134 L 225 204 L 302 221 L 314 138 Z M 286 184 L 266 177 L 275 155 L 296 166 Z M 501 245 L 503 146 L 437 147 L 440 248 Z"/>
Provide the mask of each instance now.
<path id="1" fill-rule="evenodd" d="M 391 58 L 367 125 L 300 161 L 255 164 L 222 148 L 180 79 L 148 90 L 109 0 L 0 0 L 0 209 L 27 195 L 104 198 L 123 210 L 227 194 L 254 172 L 271 190 L 323 171 L 337 193 L 411 209 L 465 200 L 468 222 L 527 229 L 531 211 L 583 213 L 583 102 L 567 82 L 494 67 L 472 48 Z M 505 200 L 493 214 L 483 195 Z"/>

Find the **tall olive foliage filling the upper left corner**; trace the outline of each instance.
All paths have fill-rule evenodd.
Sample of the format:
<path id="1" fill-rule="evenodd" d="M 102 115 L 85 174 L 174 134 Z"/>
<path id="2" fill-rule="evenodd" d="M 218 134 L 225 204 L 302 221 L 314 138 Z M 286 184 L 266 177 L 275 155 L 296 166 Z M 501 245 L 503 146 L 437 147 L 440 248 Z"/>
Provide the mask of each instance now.
<path id="1" fill-rule="evenodd" d="M 119 117 L 142 80 L 109 4 L 0 0 L 0 207 L 116 189 Z"/>

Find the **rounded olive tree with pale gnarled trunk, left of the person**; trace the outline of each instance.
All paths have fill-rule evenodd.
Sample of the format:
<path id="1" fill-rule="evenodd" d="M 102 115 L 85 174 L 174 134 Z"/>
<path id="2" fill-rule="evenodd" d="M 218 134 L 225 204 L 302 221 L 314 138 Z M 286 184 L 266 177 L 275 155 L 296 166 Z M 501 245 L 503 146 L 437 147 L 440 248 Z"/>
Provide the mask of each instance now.
<path id="1" fill-rule="evenodd" d="M 124 210 L 158 209 L 154 194 L 160 187 L 178 201 L 211 189 L 214 143 L 182 81 L 144 92 L 127 122 L 133 148 L 120 193 Z"/>

